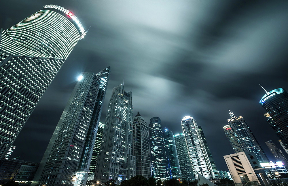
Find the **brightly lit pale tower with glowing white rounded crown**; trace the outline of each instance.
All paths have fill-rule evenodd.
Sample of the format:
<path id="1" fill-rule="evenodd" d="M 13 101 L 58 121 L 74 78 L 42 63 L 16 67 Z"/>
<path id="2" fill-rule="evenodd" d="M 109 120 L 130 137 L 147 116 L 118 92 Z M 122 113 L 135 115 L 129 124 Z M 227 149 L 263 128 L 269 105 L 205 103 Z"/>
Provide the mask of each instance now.
<path id="1" fill-rule="evenodd" d="M 206 179 L 215 178 L 213 168 L 196 121 L 191 116 L 185 116 L 182 119 L 181 124 L 195 170 L 194 177 L 198 178 L 198 172 Z"/>

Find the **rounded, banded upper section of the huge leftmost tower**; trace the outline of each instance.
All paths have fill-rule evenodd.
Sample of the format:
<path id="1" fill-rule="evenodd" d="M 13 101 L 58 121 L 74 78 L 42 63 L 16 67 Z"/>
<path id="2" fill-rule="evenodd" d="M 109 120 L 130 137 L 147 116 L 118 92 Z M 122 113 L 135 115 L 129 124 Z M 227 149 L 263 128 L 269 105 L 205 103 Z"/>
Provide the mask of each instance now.
<path id="1" fill-rule="evenodd" d="M 86 34 L 77 17 L 58 5 L 44 6 L 7 29 L 6 33 L 28 50 L 61 59 L 66 59 Z"/>

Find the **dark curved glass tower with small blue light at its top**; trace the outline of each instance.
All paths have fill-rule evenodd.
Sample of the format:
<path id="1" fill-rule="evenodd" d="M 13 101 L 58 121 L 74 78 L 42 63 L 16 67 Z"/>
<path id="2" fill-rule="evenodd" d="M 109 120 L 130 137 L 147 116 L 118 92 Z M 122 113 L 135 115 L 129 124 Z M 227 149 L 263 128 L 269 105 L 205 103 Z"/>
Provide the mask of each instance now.
<path id="1" fill-rule="evenodd" d="M 182 179 L 174 134 L 168 129 L 164 130 L 164 146 L 166 149 L 166 156 L 168 161 L 169 177 Z"/>

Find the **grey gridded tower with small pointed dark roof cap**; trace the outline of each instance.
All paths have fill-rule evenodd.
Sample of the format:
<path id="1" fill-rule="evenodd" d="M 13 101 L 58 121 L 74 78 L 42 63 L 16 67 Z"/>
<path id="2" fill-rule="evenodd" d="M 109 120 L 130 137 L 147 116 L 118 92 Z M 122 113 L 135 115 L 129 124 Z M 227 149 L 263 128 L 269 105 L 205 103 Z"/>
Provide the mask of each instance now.
<path id="1" fill-rule="evenodd" d="M 138 112 L 133 118 L 132 155 L 136 157 L 136 175 L 151 177 L 149 127 Z"/>

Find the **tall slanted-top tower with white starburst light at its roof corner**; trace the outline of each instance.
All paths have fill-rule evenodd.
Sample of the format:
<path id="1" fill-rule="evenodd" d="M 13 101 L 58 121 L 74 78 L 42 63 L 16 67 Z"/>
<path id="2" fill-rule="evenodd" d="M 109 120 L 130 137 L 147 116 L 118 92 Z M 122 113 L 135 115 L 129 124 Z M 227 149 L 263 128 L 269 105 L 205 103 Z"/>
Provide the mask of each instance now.
<path id="1" fill-rule="evenodd" d="M 32 185 L 86 183 L 109 71 L 107 67 L 98 74 L 84 73 L 78 78 Z"/>

